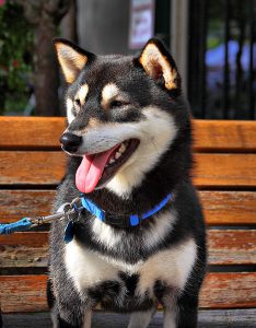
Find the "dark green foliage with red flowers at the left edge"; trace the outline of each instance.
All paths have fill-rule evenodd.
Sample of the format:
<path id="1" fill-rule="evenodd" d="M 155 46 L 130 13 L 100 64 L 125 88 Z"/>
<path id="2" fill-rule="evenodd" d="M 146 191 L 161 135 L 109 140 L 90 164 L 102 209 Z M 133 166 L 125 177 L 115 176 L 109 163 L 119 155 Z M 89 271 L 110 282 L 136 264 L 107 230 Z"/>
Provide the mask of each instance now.
<path id="1" fill-rule="evenodd" d="M 33 32 L 14 1 L 0 7 L 0 114 L 21 113 L 28 101 Z"/>

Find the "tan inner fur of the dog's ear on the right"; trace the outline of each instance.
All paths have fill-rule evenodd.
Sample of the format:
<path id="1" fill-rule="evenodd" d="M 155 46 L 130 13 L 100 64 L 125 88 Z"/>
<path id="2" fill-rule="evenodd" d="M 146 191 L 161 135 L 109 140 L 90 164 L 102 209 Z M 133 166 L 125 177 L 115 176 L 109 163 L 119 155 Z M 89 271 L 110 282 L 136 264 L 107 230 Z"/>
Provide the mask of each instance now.
<path id="1" fill-rule="evenodd" d="M 149 44 L 146 47 L 139 61 L 150 77 L 154 75 L 156 65 L 160 66 L 163 72 L 165 87 L 167 90 L 177 87 L 175 83 L 177 72 L 170 66 L 167 58 L 160 52 L 154 44 Z"/>

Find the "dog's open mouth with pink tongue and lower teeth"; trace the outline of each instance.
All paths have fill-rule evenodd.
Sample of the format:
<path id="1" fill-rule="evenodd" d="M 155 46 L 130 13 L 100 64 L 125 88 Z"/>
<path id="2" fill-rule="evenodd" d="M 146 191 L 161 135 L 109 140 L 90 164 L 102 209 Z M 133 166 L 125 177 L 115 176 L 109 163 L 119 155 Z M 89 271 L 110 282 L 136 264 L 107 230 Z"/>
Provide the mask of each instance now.
<path id="1" fill-rule="evenodd" d="M 109 180 L 138 148 L 138 139 L 129 139 L 114 148 L 93 155 L 84 155 L 75 174 L 77 188 L 92 192 Z"/>

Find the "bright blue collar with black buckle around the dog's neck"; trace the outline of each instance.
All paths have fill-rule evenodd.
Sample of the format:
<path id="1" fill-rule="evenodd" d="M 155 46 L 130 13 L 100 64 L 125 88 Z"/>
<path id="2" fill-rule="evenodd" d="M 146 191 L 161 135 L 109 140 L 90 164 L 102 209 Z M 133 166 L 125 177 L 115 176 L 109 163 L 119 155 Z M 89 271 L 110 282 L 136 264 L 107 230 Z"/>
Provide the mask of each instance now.
<path id="1" fill-rule="evenodd" d="M 137 226 L 144 219 L 148 219 L 155 213 L 158 213 L 162 208 L 166 206 L 166 203 L 172 199 L 172 194 L 168 194 L 160 203 L 158 203 L 154 208 L 149 210 L 148 212 L 139 215 L 139 214 L 118 214 L 113 212 L 105 212 L 100 209 L 92 200 L 86 198 L 84 195 L 81 197 L 82 206 L 94 216 L 100 219 L 102 222 L 116 225 L 119 227 L 129 227 Z"/>

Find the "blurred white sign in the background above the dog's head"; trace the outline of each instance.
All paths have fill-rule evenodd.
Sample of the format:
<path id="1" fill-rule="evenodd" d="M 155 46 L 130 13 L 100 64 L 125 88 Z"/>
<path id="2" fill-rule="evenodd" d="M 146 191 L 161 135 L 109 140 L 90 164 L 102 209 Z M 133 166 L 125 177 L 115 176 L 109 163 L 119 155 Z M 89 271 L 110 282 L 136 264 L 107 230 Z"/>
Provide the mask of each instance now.
<path id="1" fill-rule="evenodd" d="M 154 34 L 154 0 L 130 0 L 129 48 L 140 49 Z"/>

